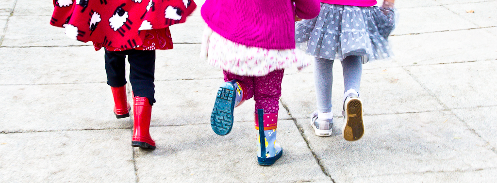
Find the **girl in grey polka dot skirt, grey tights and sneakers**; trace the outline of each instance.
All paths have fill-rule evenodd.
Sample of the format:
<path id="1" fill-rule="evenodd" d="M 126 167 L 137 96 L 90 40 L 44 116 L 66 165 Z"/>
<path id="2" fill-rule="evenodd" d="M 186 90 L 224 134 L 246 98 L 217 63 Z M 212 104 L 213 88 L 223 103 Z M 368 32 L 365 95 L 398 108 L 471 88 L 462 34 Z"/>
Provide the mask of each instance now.
<path id="1" fill-rule="evenodd" d="M 318 111 L 311 125 L 318 136 L 330 136 L 333 125 L 331 84 L 333 60 L 341 61 L 343 94 L 343 137 L 354 141 L 362 137 L 362 101 L 359 84 L 362 63 L 392 56 L 387 37 L 395 26 L 394 0 L 382 7 L 376 0 L 321 0 L 320 14 L 297 22 L 295 38 L 299 48 L 314 56 Z"/>

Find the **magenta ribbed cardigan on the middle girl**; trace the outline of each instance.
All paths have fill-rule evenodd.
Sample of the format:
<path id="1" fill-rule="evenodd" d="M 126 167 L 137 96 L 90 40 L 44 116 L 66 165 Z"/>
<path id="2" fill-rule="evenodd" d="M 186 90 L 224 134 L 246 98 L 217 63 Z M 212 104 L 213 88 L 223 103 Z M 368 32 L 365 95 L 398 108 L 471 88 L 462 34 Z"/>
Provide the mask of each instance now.
<path id="1" fill-rule="evenodd" d="M 201 8 L 214 32 L 235 43 L 266 49 L 294 49 L 294 14 L 312 19 L 319 11 L 319 0 L 206 0 Z"/>

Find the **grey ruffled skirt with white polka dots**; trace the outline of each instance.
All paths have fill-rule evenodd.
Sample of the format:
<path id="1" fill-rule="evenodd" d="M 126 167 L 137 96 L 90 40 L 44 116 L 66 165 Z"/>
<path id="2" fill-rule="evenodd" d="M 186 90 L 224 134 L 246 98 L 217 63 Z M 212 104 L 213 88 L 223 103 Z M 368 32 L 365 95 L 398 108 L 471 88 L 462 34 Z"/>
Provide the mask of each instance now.
<path id="1" fill-rule="evenodd" d="M 355 55 L 362 56 L 363 63 L 384 60 L 393 56 L 387 38 L 395 19 L 394 9 L 321 3 L 316 18 L 295 23 L 295 41 L 297 48 L 317 58 Z"/>

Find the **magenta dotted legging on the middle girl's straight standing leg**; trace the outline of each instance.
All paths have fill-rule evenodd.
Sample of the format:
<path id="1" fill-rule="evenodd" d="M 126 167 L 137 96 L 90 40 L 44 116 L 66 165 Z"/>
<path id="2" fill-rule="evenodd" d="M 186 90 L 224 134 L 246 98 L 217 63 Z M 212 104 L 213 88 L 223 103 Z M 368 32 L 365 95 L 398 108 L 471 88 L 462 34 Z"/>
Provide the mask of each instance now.
<path id="1" fill-rule="evenodd" d="M 275 70 L 265 76 L 254 77 L 255 111 L 263 109 L 264 114 L 278 113 L 283 72 L 284 69 Z"/>

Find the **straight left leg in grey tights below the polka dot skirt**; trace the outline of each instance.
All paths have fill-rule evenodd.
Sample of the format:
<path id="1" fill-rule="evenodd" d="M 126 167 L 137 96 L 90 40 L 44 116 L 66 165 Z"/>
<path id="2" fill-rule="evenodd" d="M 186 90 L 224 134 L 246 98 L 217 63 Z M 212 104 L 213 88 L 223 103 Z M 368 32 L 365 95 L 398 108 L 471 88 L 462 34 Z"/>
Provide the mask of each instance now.
<path id="1" fill-rule="evenodd" d="M 331 112 L 331 85 L 333 84 L 333 60 L 316 58 L 314 82 L 318 100 L 318 112 Z"/>

